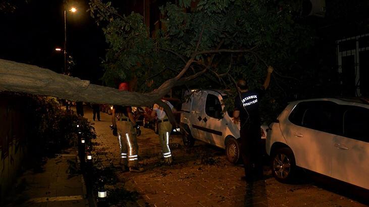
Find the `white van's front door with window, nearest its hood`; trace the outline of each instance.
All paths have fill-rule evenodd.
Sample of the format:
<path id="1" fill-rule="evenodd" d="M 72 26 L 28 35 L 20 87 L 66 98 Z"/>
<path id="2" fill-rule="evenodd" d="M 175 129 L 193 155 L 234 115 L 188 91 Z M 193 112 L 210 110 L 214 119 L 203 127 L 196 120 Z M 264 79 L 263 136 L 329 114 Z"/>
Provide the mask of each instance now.
<path id="1" fill-rule="evenodd" d="M 205 110 L 201 120 L 201 130 L 206 142 L 224 147 L 223 131 L 227 128 L 222 114 L 220 94 L 209 91 L 206 95 Z"/>

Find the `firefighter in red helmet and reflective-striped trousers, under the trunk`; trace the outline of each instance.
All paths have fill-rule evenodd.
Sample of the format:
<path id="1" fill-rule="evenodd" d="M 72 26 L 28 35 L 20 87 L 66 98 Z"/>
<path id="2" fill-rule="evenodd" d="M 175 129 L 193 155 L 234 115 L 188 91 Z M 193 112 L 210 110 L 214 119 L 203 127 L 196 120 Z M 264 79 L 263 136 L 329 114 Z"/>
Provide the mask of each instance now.
<path id="1" fill-rule="evenodd" d="M 128 91 L 127 83 L 121 83 L 119 90 Z M 112 113 L 113 134 L 118 136 L 120 147 L 120 164 L 123 170 L 129 169 L 130 172 L 143 172 L 143 168 L 138 167 L 138 144 L 137 137 L 141 135 L 141 130 L 135 122 L 132 108 L 129 106 L 113 106 Z M 127 167 L 128 166 L 128 167 Z"/>

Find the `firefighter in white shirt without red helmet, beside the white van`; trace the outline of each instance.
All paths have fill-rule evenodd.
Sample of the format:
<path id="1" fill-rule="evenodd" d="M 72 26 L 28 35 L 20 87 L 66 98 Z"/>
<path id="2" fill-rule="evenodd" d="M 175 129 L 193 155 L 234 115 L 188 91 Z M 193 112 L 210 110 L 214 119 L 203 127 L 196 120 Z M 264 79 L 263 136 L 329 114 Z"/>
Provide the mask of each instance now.
<path id="1" fill-rule="evenodd" d="M 173 105 L 167 101 L 162 99 L 171 109 L 173 113 L 177 113 L 177 110 L 173 107 Z M 172 124 L 169 122 L 168 116 L 165 113 L 164 109 L 154 104 L 152 108 L 152 112 L 150 114 L 151 118 L 155 118 L 157 116 L 157 124 L 159 126 L 159 140 L 162 146 L 162 153 L 164 157 L 164 162 L 167 164 L 171 164 L 173 162 L 172 152 L 169 148 L 169 135 L 172 131 Z"/>

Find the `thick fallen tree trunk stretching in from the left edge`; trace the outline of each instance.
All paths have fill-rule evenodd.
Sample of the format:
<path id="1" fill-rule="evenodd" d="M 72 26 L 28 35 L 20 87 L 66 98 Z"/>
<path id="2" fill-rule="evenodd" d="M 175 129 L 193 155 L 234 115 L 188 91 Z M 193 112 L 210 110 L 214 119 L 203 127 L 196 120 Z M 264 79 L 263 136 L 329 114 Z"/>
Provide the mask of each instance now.
<path id="1" fill-rule="evenodd" d="M 123 106 L 152 106 L 158 103 L 167 112 L 161 98 L 176 85 L 170 79 L 150 93 L 119 91 L 87 80 L 66 76 L 48 69 L 0 59 L 0 90 L 26 92 L 36 95 L 54 96 L 68 100 L 93 103 L 110 103 Z M 176 125 L 172 113 L 167 113 L 171 123 Z"/>

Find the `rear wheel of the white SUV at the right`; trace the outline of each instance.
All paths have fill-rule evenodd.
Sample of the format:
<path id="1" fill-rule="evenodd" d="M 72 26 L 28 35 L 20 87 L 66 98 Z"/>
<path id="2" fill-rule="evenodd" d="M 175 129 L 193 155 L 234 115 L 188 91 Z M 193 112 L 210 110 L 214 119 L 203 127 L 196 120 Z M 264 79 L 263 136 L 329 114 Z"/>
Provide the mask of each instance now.
<path id="1" fill-rule="evenodd" d="M 296 163 L 293 152 L 290 148 L 279 148 L 272 156 L 273 176 L 282 183 L 288 183 L 293 180 Z"/>

